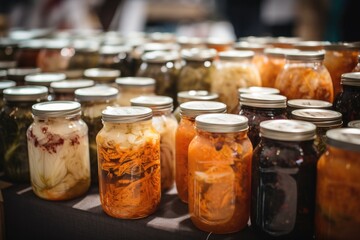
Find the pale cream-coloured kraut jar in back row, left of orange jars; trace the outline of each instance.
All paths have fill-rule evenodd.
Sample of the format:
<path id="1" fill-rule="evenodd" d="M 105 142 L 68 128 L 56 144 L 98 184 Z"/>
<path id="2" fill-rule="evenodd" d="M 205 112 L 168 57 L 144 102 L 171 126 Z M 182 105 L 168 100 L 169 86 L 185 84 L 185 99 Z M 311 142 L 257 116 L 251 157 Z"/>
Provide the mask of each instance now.
<path id="1" fill-rule="evenodd" d="M 224 51 L 219 53 L 212 72 L 211 91 L 219 94 L 228 113 L 238 113 L 238 89 L 261 86 L 259 71 L 251 63 L 252 51 Z"/>

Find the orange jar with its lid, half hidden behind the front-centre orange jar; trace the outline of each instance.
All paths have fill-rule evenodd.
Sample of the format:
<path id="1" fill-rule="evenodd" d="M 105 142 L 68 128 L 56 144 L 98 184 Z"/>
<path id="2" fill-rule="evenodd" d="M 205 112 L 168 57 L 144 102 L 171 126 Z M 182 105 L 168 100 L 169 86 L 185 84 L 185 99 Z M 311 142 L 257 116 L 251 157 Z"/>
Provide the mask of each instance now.
<path id="1" fill-rule="evenodd" d="M 196 135 L 195 117 L 206 113 L 225 113 L 226 105 L 212 101 L 190 101 L 180 105 L 180 123 L 175 134 L 175 182 L 181 201 L 188 202 L 188 147 Z"/>

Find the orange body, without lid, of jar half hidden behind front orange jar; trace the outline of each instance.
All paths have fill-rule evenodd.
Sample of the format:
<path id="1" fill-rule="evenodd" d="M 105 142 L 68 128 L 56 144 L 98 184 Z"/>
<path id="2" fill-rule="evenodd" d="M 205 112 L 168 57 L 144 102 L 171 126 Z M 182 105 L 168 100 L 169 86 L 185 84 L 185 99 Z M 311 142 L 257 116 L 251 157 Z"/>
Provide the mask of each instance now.
<path id="1" fill-rule="evenodd" d="M 188 148 L 195 135 L 195 119 L 181 116 L 175 138 L 175 181 L 178 196 L 185 203 L 188 202 Z"/>

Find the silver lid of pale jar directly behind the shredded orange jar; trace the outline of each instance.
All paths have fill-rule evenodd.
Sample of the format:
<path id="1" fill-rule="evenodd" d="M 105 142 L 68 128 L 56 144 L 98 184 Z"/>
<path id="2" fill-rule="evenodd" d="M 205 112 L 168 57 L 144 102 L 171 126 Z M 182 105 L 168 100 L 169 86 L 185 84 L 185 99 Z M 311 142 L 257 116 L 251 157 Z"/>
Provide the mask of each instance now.
<path id="1" fill-rule="evenodd" d="M 149 107 L 154 113 L 173 110 L 173 100 L 166 96 L 140 96 L 130 99 L 131 106 Z"/>

